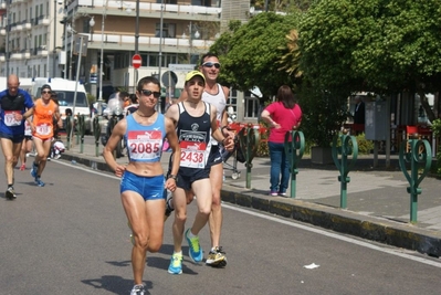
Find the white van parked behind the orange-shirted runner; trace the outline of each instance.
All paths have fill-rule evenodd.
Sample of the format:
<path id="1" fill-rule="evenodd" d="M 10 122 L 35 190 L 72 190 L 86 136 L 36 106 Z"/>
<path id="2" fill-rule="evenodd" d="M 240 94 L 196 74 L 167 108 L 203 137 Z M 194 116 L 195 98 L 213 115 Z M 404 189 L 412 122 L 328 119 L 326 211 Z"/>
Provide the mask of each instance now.
<path id="1" fill-rule="evenodd" d="M 76 102 L 74 109 L 74 95 L 75 95 L 75 81 L 65 80 L 61 77 L 35 77 L 33 78 L 32 95 L 35 98 L 41 97 L 41 87 L 44 84 L 49 84 L 53 92 L 56 93 L 56 97 L 60 103 L 60 114 L 63 119 L 63 126 L 65 126 L 65 110 L 70 108 L 72 112 L 84 115 L 84 122 L 86 125 L 86 134 L 91 133 L 91 109 L 88 107 L 87 93 L 83 84 L 76 87 Z"/>

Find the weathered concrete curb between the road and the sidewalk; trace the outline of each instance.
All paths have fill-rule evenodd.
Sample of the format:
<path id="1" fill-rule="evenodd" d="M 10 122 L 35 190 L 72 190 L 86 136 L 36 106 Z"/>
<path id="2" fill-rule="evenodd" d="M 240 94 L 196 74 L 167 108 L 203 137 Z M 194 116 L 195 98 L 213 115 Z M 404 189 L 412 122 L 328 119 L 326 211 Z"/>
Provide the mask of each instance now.
<path id="1" fill-rule="evenodd" d="M 104 158 L 66 151 L 63 160 L 113 172 Z M 418 251 L 430 256 L 441 256 L 441 233 L 399 223 L 387 219 L 363 215 L 354 211 L 326 207 L 290 198 L 272 198 L 253 192 L 243 192 L 230 186 L 221 191 L 222 201 L 265 211 L 283 218 L 294 219 L 319 228 L 359 236 L 379 243 Z"/>

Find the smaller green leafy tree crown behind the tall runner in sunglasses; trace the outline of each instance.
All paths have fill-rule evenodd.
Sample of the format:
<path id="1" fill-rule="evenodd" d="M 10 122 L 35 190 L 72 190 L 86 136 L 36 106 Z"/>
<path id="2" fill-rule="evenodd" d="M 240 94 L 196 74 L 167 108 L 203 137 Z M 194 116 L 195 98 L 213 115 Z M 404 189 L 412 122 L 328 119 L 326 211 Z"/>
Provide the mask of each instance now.
<path id="1" fill-rule="evenodd" d="M 264 97 L 273 95 L 281 84 L 292 85 L 293 77 L 279 71 L 279 61 L 286 53 L 285 35 L 297 21 L 296 14 L 260 13 L 223 33 L 210 49 L 220 55 L 222 81 L 241 91 L 259 86 Z"/>

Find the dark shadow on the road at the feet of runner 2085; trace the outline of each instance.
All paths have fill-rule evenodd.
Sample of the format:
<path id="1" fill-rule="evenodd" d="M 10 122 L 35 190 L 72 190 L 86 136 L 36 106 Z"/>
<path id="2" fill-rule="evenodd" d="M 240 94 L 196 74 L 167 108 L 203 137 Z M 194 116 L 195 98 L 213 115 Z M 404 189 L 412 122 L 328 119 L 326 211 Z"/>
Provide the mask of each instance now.
<path id="1" fill-rule="evenodd" d="M 113 294 L 127 294 L 133 287 L 133 280 L 125 280 L 116 275 L 104 275 L 101 278 L 82 280 L 83 284 L 90 285 L 94 289 L 105 289 Z M 153 288 L 151 282 L 144 282 L 146 284 L 146 295 L 150 294 L 148 289 Z M 91 292 L 93 294 L 93 292 Z"/>

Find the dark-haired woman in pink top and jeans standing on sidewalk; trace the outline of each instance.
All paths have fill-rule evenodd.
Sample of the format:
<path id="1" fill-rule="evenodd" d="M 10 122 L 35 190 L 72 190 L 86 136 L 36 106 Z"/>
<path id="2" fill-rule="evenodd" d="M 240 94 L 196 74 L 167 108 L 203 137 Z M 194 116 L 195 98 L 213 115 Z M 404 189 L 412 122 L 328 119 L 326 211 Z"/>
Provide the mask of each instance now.
<path id="1" fill-rule="evenodd" d="M 276 102 L 262 112 L 262 119 L 271 127 L 267 140 L 271 159 L 270 194 L 285 197 L 290 181 L 290 155 L 285 154 L 285 134 L 293 127 L 298 128 L 302 120 L 302 109 L 290 86 L 282 85 L 279 88 Z"/>

